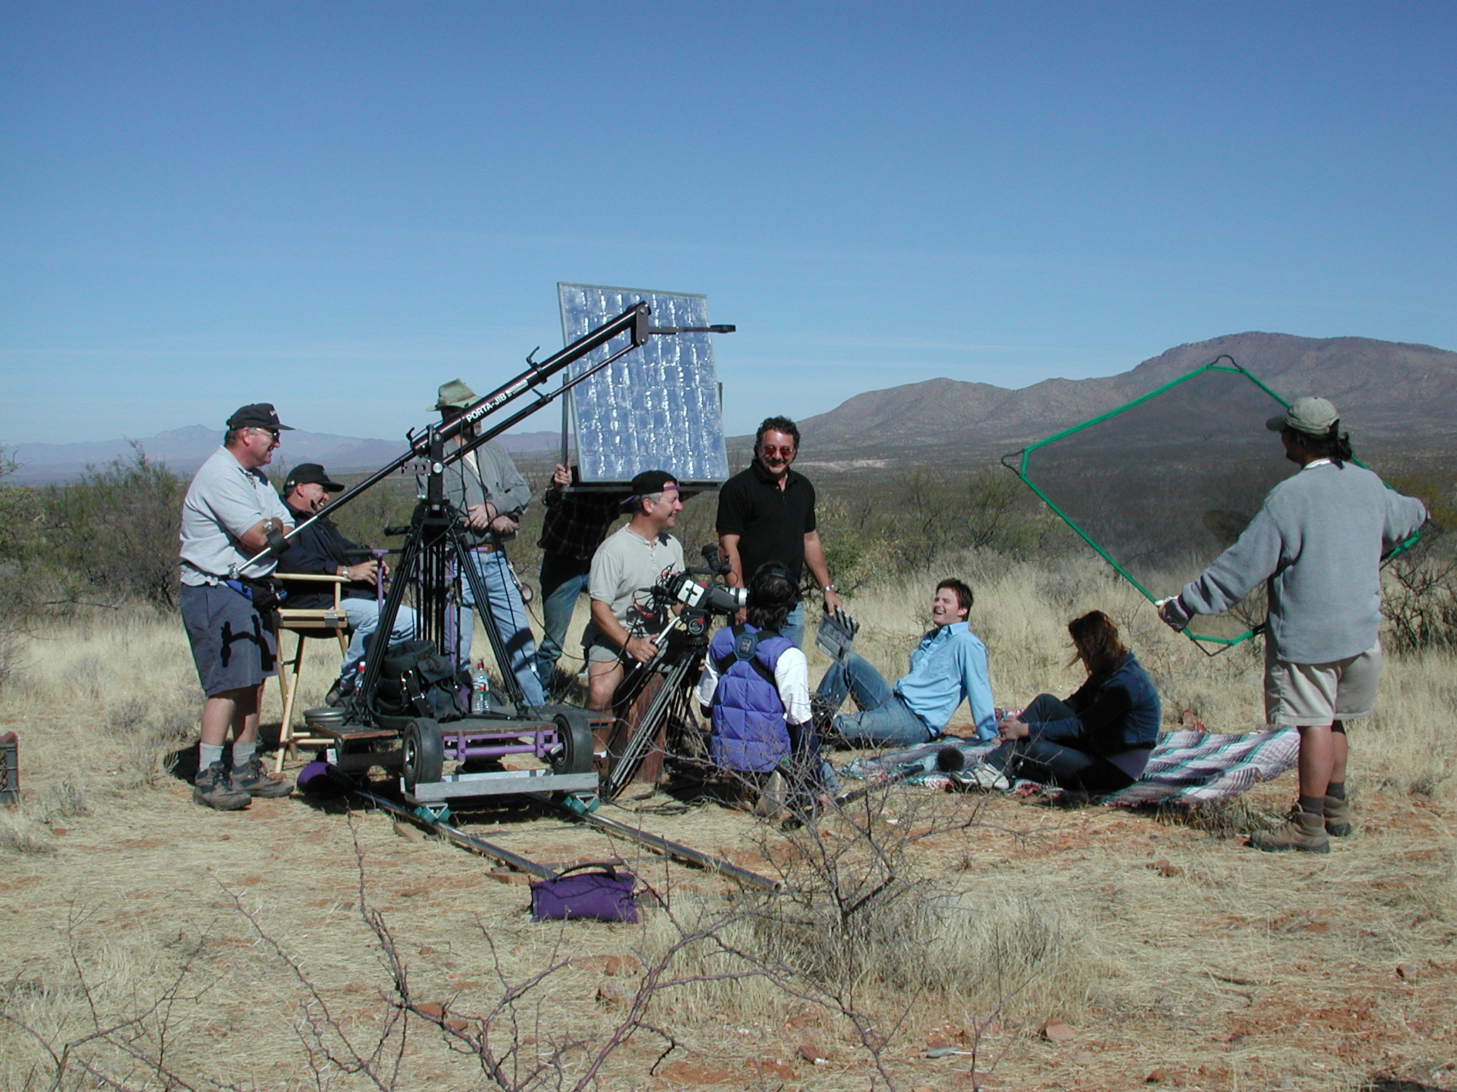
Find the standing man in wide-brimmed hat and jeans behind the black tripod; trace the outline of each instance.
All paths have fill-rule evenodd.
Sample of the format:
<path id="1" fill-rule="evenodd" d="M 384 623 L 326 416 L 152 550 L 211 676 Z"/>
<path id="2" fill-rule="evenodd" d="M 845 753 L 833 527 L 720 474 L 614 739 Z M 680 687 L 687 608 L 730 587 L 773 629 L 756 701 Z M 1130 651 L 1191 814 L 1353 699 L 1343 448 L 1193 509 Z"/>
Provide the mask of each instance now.
<path id="1" fill-rule="evenodd" d="M 449 421 L 475 402 L 475 392 L 453 379 L 440 384 L 433 408 Z M 457 443 L 465 443 L 475 434 L 476 425 L 469 425 Z M 446 499 L 463 514 L 471 558 L 485 584 L 485 609 L 501 633 L 511 676 L 520 686 L 526 705 L 545 705 L 546 695 L 536 674 L 536 642 L 530 620 L 506 558 L 506 543 L 520 530 L 522 513 L 532 501 L 532 488 L 506 448 L 488 440 L 446 467 L 444 492 Z M 469 581 L 460 581 L 460 594 L 459 658 L 462 667 L 469 667 L 476 606 Z"/>

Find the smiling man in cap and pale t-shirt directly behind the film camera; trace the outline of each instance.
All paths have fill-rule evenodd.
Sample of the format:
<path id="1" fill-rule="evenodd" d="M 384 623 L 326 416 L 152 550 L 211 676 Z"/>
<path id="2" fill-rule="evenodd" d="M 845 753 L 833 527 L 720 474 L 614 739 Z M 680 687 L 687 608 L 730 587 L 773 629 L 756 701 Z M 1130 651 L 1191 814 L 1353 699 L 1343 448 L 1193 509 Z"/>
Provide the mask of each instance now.
<path id="1" fill-rule="evenodd" d="M 641 632 L 632 617 L 635 596 L 664 575 L 683 571 L 683 545 L 667 533 L 683 511 L 678 479 L 666 470 L 644 470 L 632 479 L 632 495 L 624 505 L 632 518 L 592 555 L 587 578 L 592 622 L 581 635 L 587 708 L 600 712 L 612 706 L 624 667 L 657 655 L 653 635 Z"/>

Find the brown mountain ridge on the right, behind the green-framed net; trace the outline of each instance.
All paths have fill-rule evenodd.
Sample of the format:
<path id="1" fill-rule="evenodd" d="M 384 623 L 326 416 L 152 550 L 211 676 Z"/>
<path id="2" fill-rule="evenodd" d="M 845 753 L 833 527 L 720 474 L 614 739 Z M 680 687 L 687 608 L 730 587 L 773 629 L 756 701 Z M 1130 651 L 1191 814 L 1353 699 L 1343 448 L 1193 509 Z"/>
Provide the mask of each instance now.
<path id="1" fill-rule="evenodd" d="M 1231 333 L 1179 345 L 1131 371 L 1021 390 L 932 379 L 847 399 L 800 421 L 806 457 L 1010 451 L 1228 354 L 1285 399 L 1323 395 L 1358 444 L 1432 448 L 1457 437 L 1457 352 L 1372 338 Z M 1171 421 L 1170 428 L 1179 422 Z M 736 438 L 734 447 L 742 447 Z"/>

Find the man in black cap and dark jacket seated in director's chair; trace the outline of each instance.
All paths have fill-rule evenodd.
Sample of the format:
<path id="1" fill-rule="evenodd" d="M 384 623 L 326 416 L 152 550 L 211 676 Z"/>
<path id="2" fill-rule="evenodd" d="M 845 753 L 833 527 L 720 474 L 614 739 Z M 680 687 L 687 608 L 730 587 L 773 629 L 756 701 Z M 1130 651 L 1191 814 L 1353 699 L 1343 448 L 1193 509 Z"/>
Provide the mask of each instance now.
<path id="1" fill-rule="evenodd" d="M 344 652 L 339 677 L 329 687 L 325 703 L 338 705 L 354 689 L 354 677 L 364 660 L 364 644 L 379 628 L 380 596 L 379 582 L 388 575 L 382 561 L 361 559 L 367 547 L 350 542 L 334 526 L 334 520 L 318 513 L 329 502 L 329 494 L 342 492 L 344 486 L 329 479 L 318 463 L 299 463 L 284 479 L 283 502 L 288 507 L 294 526 L 300 530 L 288 542 L 288 549 L 278 559 L 278 578 L 288 588 L 288 606 L 303 610 L 322 610 L 334 606 L 334 590 L 319 581 L 290 581 L 290 574 L 310 577 L 344 577 L 339 606 L 350 620 L 353 635 Z M 318 518 L 315 518 L 318 515 Z M 309 520 L 305 527 L 305 523 Z M 404 603 L 395 616 L 389 644 L 411 641 L 415 636 L 415 612 Z"/>

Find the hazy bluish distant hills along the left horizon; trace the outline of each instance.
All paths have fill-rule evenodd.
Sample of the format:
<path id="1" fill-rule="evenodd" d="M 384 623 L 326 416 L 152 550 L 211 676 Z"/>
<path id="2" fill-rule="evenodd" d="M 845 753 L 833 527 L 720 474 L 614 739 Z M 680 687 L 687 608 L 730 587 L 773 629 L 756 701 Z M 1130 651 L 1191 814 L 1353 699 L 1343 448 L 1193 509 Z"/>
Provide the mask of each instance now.
<path id="1" fill-rule="evenodd" d="M 166 463 L 175 473 L 188 476 L 203 464 L 223 434 L 205 425 L 173 428 L 136 443 L 149 459 Z M 513 432 L 501 437 L 513 453 L 552 451 L 561 444 L 559 432 Z M 131 440 L 96 440 L 80 444 L 17 444 L 10 454 L 20 464 L 9 479 L 19 485 L 66 482 L 87 466 L 105 466 L 114 459 L 131 456 Z M 331 432 L 296 430 L 284 434 L 283 447 L 274 456 L 280 466 L 322 463 L 329 473 L 342 475 L 374 470 L 405 450 L 402 440 L 360 440 Z"/>

